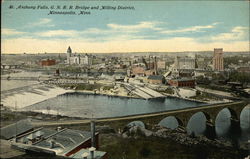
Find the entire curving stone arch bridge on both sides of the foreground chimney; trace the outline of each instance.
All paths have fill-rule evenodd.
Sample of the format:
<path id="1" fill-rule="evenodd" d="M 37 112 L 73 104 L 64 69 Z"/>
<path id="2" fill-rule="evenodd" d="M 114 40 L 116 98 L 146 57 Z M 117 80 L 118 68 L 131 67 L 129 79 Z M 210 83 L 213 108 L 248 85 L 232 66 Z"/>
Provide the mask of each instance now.
<path id="1" fill-rule="evenodd" d="M 215 119 L 218 116 L 219 112 L 227 108 L 231 113 L 231 125 L 236 125 L 240 128 L 240 114 L 242 110 L 249 104 L 249 101 L 237 101 L 230 103 L 220 103 L 220 104 L 211 104 L 198 107 L 189 107 L 184 109 L 177 110 L 168 110 L 156 113 L 147 113 L 139 115 L 129 115 L 122 117 L 111 117 L 111 118 L 98 118 L 96 123 L 98 125 L 110 125 L 116 131 L 119 128 L 124 128 L 128 123 L 132 121 L 142 121 L 148 129 L 154 128 L 160 121 L 166 117 L 173 116 L 178 121 L 180 129 L 185 130 L 187 124 L 191 117 L 196 113 L 202 112 L 206 117 L 206 126 L 211 133 L 215 134 Z M 84 120 L 72 120 L 72 121 L 56 121 L 56 122 L 41 122 L 33 123 L 35 126 L 66 126 L 70 125 L 79 125 L 79 124 L 89 124 L 91 119 Z"/>

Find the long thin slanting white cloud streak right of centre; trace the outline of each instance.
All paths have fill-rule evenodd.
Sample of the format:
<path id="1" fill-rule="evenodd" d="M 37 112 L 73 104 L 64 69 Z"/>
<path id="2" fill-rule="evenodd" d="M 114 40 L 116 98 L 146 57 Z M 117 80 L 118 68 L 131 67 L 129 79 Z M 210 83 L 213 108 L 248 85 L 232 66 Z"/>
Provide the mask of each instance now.
<path id="1" fill-rule="evenodd" d="M 163 34 L 175 34 L 175 33 L 187 33 L 187 32 L 204 32 L 205 29 L 212 29 L 215 28 L 215 26 L 219 24 L 218 22 L 210 24 L 210 25 L 197 25 L 182 29 L 176 29 L 176 30 L 164 30 L 161 31 Z"/>

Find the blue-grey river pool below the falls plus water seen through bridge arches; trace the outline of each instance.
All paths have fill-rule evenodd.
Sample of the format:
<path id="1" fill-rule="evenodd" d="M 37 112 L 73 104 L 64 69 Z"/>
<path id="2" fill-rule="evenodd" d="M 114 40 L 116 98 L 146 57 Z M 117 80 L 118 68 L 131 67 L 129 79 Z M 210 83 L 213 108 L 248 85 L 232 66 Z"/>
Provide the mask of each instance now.
<path id="1" fill-rule="evenodd" d="M 71 117 L 103 118 L 198 107 L 201 105 L 204 105 L 204 103 L 178 98 L 142 100 L 87 95 L 83 93 L 66 93 L 25 107 L 23 110 L 60 114 Z M 232 130 L 234 128 L 231 128 L 230 124 L 230 112 L 228 109 L 223 109 L 216 118 L 216 137 L 224 139 L 236 138 L 240 142 L 247 141 L 250 137 L 250 106 L 243 109 L 240 120 L 240 130 L 235 133 L 235 131 Z M 194 114 L 187 126 L 188 133 L 194 132 L 196 135 L 205 134 L 205 123 L 206 118 L 203 113 L 199 112 Z M 176 119 L 173 117 L 165 118 L 159 124 L 169 128 L 178 126 Z"/>

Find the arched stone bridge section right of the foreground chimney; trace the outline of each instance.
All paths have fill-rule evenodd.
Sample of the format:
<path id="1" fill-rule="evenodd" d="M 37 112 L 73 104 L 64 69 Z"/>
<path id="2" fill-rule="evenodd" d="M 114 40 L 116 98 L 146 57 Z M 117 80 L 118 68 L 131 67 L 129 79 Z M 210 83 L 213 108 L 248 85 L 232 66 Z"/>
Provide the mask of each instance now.
<path id="1" fill-rule="evenodd" d="M 160 121 L 165 119 L 166 117 L 174 117 L 178 122 L 178 128 L 185 130 L 187 124 L 191 117 L 198 112 L 202 112 L 206 117 L 206 128 L 210 132 L 210 134 L 215 134 L 215 120 L 218 116 L 219 112 L 223 109 L 227 108 L 231 114 L 231 125 L 237 128 L 240 128 L 240 114 L 242 110 L 246 107 L 248 102 L 239 101 L 239 102 L 231 102 L 231 103 L 221 103 L 221 104 L 212 104 L 205 105 L 199 107 L 192 108 L 184 108 L 178 110 L 169 110 L 157 113 L 150 114 L 141 114 L 141 115 L 131 115 L 126 117 L 117 117 L 108 119 L 99 119 L 97 122 L 109 123 L 110 125 L 118 124 L 120 126 L 124 126 L 132 121 L 142 121 L 146 124 L 146 126 L 150 129 L 155 125 L 158 125 Z M 117 123 L 116 123 L 117 122 Z M 117 125 L 115 126 L 117 127 Z"/>

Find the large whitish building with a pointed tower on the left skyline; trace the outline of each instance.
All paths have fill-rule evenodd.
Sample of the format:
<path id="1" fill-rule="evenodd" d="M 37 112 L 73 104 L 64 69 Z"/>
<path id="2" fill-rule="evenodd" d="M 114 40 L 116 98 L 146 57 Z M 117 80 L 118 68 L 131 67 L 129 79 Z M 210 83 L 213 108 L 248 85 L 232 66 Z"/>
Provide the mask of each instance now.
<path id="1" fill-rule="evenodd" d="M 72 49 L 69 46 L 67 49 L 67 64 L 92 65 L 92 58 L 88 54 L 84 56 L 76 53 L 72 54 Z"/>

